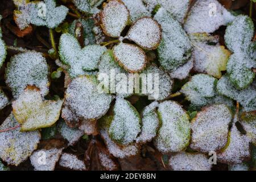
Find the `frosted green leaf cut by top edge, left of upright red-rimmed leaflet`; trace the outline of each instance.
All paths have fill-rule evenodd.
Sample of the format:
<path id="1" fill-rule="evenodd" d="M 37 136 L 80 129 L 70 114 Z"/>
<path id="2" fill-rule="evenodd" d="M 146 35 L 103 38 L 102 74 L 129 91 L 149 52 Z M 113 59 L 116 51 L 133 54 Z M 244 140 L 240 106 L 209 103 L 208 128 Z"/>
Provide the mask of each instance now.
<path id="1" fill-rule="evenodd" d="M 104 0 L 72 0 L 74 5 L 80 11 L 89 14 L 96 14 L 100 12 L 97 6 L 100 6 Z"/>

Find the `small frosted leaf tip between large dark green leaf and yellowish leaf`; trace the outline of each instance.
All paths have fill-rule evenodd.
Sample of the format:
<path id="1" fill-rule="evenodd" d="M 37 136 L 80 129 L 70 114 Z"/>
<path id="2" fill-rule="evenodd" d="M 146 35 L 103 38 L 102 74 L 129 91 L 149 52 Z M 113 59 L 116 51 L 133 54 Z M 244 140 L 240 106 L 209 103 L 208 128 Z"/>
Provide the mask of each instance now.
<path id="1" fill-rule="evenodd" d="M 171 78 L 184 80 L 189 76 L 189 72 L 194 67 L 194 57 L 191 57 L 187 63 L 177 68 L 175 71 L 170 73 Z"/>

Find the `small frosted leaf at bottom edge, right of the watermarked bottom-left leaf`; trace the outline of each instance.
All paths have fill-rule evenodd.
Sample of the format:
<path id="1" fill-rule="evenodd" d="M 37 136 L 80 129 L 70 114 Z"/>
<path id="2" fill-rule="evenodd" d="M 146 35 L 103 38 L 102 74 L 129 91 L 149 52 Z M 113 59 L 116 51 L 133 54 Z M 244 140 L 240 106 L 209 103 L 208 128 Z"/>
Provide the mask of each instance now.
<path id="1" fill-rule="evenodd" d="M 75 171 L 86 170 L 84 162 L 78 159 L 74 154 L 63 153 L 60 157 L 59 165 Z"/>

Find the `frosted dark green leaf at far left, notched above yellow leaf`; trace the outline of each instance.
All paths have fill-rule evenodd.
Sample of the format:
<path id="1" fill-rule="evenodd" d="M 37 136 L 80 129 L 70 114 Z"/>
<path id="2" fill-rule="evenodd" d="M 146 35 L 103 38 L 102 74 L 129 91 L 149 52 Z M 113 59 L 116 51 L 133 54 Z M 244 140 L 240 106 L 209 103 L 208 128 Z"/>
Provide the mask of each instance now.
<path id="1" fill-rule="evenodd" d="M 14 98 L 18 98 L 28 85 L 38 87 L 42 96 L 48 94 L 48 65 L 39 52 L 28 51 L 11 57 L 5 74 Z"/>

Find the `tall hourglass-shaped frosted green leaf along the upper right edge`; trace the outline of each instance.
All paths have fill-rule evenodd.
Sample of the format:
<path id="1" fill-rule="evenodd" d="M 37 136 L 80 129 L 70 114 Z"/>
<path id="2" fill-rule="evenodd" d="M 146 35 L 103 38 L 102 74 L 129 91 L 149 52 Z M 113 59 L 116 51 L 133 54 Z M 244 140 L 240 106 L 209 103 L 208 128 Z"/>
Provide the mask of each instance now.
<path id="1" fill-rule="evenodd" d="M 239 15 L 226 28 L 226 46 L 234 53 L 227 65 L 229 79 L 237 89 L 247 88 L 255 77 L 251 68 L 256 67 L 251 38 L 254 35 L 253 21 L 245 15 Z"/>

